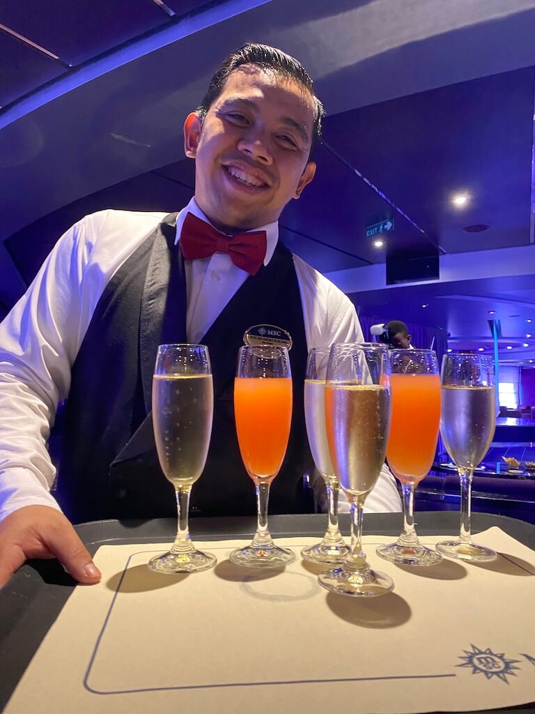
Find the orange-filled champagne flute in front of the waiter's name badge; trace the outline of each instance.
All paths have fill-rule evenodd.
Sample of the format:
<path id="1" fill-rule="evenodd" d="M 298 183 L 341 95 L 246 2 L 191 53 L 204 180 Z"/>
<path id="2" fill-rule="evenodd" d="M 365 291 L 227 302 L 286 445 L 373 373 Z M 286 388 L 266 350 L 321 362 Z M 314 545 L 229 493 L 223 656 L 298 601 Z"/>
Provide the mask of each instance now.
<path id="1" fill-rule="evenodd" d="M 267 503 L 270 485 L 285 457 L 292 421 L 292 373 L 287 348 L 240 348 L 234 411 L 240 453 L 255 484 L 258 528 L 253 542 L 233 550 L 230 560 L 248 568 L 280 568 L 292 563 L 295 555 L 273 543 L 267 530 Z"/>

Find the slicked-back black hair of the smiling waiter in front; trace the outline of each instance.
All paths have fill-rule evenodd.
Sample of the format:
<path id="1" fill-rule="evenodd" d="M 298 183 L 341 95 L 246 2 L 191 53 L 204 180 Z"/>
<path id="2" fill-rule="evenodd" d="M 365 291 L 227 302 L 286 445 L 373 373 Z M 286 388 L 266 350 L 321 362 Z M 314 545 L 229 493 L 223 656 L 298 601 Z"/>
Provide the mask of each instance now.
<path id="1" fill-rule="evenodd" d="M 314 82 L 310 74 L 307 73 L 297 59 L 269 45 L 249 42 L 229 54 L 228 57 L 223 60 L 219 69 L 215 72 L 212 79 L 210 79 L 208 91 L 196 110 L 200 121 L 204 121 L 208 109 L 210 109 L 210 106 L 218 99 L 230 74 L 243 64 L 255 64 L 263 69 L 274 71 L 288 79 L 295 79 L 295 81 L 310 94 L 314 108 L 314 125 L 312 126 L 313 148 L 321 139 L 322 118 L 325 116 L 323 105 L 314 91 Z"/>

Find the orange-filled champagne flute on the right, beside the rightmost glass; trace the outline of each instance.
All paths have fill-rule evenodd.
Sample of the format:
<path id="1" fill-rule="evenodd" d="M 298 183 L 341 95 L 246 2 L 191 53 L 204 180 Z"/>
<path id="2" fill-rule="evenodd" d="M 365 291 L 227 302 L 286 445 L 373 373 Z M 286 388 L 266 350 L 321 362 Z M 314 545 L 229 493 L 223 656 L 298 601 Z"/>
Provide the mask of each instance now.
<path id="1" fill-rule="evenodd" d="M 440 377 L 432 350 L 390 353 L 392 421 L 387 461 L 402 483 L 403 531 L 395 543 L 380 545 L 377 555 L 399 565 L 436 565 L 442 555 L 425 548 L 414 528 L 414 488 L 427 476 L 437 449 Z"/>

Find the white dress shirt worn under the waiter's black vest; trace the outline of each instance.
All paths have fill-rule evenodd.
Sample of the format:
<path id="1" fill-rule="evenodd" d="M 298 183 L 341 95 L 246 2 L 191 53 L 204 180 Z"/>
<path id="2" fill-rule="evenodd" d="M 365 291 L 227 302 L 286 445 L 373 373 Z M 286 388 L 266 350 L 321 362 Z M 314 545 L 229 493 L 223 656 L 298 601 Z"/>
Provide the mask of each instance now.
<path id="1" fill-rule="evenodd" d="M 177 216 L 177 236 L 195 200 Z M 58 401 L 68 396 L 71 367 L 106 285 L 165 213 L 100 211 L 61 236 L 24 296 L 0 323 L 0 519 L 17 508 L 59 508 L 49 493 L 56 470 L 46 444 Z M 278 223 L 265 230 L 269 263 Z M 178 238 L 177 238 L 178 240 Z M 293 256 L 307 347 L 362 341 L 355 308 L 344 293 Z M 198 342 L 248 278 L 226 253 L 185 261 L 188 341 Z M 105 368 L 105 366 L 103 366 Z M 399 511 L 394 478 L 384 467 L 367 511 Z"/>

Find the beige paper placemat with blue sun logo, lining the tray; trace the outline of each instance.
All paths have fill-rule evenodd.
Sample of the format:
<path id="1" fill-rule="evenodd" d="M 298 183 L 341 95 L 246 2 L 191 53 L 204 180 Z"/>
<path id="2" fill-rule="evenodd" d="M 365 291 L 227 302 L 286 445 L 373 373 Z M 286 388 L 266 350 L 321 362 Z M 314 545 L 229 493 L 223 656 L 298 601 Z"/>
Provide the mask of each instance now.
<path id="1" fill-rule="evenodd" d="M 440 537 L 422 538 L 435 543 Z M 535 553 L 498 528 L 489 565 L 370 563 L 394 593 L 327 593 L 319 569 L 249 571 L 228 561 L 245 541 L 202 543 L 215 570 L 146 568 L 159 545 L 98 550 L 100 585 L 76 588 L 21 679 L 7 714 L 39 711 L 402 713 L 535 701 Z M 280 538 L 297 556 L 312 538 Z"/>

